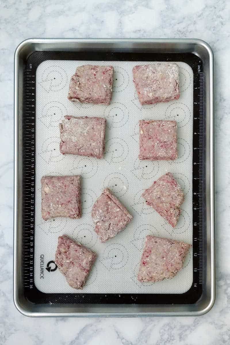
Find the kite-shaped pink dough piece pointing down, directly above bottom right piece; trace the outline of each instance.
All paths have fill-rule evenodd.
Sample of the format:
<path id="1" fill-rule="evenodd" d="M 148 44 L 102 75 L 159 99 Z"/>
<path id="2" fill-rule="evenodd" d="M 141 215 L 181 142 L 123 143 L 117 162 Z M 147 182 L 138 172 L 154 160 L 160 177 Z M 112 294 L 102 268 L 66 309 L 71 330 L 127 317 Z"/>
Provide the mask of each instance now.
<path id="1" fill-rule="evenodd" d="M 147 205 L 154 208 L 173 228 L 177 225 L 184 194 L 170 172 L 154 181 L 153 185 L 144 191 L 142 197 L 146 199 Z"/>

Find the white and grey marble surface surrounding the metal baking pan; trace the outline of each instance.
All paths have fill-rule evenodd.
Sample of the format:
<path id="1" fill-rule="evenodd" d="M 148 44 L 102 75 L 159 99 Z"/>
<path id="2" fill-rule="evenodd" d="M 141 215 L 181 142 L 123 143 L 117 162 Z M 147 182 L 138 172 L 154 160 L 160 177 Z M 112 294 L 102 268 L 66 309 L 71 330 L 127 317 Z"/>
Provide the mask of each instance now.
<path id="1" fill-rule="evenodd" d="M 230 344 L 229 1 L 0 3 L 0 344 Z M 14 307 L 13 53 L 18 43 L 29 37 L 201 38 L 211 45 L 216 58 L 217 299 L 208 314 L 180 318 L 28 318 Z"/>

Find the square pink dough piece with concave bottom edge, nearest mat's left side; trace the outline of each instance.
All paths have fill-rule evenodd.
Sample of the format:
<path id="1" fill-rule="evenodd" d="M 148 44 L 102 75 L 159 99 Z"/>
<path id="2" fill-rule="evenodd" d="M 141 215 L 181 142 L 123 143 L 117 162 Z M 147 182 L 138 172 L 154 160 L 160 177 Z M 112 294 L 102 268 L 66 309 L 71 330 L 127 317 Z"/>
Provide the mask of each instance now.
<path id="1" fill-rule="evenodd" d="M 41 178 L 41 214 L 44 220 L 81 217 L 80 175 Z"/>

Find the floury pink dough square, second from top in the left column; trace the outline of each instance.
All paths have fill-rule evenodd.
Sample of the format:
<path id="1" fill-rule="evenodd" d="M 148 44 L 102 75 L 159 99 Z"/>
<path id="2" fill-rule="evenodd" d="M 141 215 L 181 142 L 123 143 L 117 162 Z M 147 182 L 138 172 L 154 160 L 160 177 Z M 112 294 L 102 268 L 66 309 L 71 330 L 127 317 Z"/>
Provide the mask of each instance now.
<path id="1" fill-rule="evenodd" d="M 59 128 L 61 153 L 103 157 L 106 119 L 65 116 Z"/>

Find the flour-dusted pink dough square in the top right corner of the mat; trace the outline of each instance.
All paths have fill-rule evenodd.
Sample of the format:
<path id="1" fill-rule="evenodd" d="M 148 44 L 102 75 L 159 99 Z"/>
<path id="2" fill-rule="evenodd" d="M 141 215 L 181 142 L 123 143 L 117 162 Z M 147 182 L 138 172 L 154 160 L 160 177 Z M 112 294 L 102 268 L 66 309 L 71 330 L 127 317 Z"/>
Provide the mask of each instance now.
<path id="1" fill-rule="evenodd" d="M 140 103 L 168 102 L 180 97 L 179 67 L 174 62 L 159 62 L 133 67 L 133 82 Z"/>

